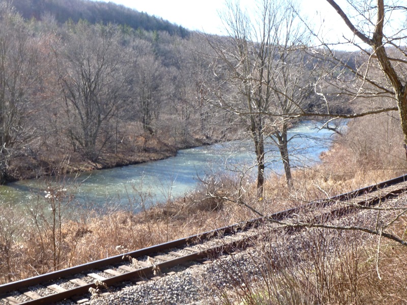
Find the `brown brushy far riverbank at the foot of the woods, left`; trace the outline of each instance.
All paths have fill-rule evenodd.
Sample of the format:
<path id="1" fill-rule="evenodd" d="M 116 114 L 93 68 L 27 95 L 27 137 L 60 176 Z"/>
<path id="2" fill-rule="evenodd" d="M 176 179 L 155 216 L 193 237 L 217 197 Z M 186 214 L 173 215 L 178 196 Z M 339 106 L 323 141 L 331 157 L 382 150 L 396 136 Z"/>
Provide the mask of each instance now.
<path id="1" fill-rule="evenodd" d="M 109 169 L 128 165 L 164 160 L 177 155 L 178 150 L 219 142 L 219 139 L 189 138 L 177 143 L 164 142 L 157 136 L 138 136 L 131 145 L 118 149 L 104 149 L 96 162 L 84 160 L 78 153 L 60 150 L 53 156 L 28 154 L 10 162 L 7 182 L 33 179 L 45 176 L 66 175 L 92 170 Z"/>

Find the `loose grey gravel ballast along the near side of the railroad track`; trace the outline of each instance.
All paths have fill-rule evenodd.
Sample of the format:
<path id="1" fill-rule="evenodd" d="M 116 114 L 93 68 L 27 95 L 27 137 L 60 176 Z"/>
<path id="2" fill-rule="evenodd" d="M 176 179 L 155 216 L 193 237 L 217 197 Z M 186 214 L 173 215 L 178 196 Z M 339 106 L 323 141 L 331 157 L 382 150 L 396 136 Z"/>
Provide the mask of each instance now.
<path id="1" fill-rule="evenodd" d="M 400 206 L 407 197 L 400 196 L 398 199 L 389 200 L 388 206 Z M 392 214 L 390 212 L 390 214 Z M 343 217 L 341 220 L 334 220 L 333 223 L 374 223 L 377 212 L 362 210 L 357 214 Z M 394 213 L 393 213 L 394 216 Z M 386 218 L 386 217 L 384 217 Z M 267 235 L 265 229 L 259 228 L 263 235 Z M 119 288 L 110 288 L 110 294 L 91 299 L 85 304 L 217 304 L 219 292 L 233 291 L 233 287 L 244 287 L 244 283 L 261 281 L 261 267 L 265 261 L 258 259 L 265 249 L 273 249 L 276 256 L 288 256 L 293 261 L 301 262 L 301 253 L 309 251 L 304 249 L 304 238 L 309 236 L 309 230 L 301 230 L 295 234 L 286 234 L 284 229 L 269 236 L 263 245 L 250 247 L 242 251 L 237 251 L 232 255 L 223 255 L 220 258 L 212 259 L 211 264 L 196 264 L 190 267 L 177 266 L 169 271 L 176 271 L 173 275 L 162 275 L 156 280 L 147 281 L 144 284 L 136 285 L 127 283 Z M 308 235 L 307 235 L 308 234 Z M 271 234 L 269 234 L 271 235 Z M 340 235 L 340 234 L 339 234 Z M 338 236 L 339 236 L 338 235 Z M 331 248 L 331 247 L 330 247 Z M 273 258 L 266 262 L 273 264 Z M 236 290 L 236 288 L 235 288 Z M 72 304 L 66 301 L 64 304 Z"/>

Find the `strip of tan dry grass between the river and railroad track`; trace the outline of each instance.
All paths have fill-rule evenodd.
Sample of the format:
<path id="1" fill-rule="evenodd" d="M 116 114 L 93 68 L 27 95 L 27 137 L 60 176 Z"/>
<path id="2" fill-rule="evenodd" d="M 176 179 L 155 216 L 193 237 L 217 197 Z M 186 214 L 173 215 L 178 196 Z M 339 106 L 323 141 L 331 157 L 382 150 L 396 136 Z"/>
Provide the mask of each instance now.
<path id="1" fill-rule="evenodd" d="M 389 139 L 398 143 L 400 135 L 391 128 L 390 135 L 381 136 L 384 140 L 379 141 L 377 134 L 366 132 L 366 126 L 381 126 L 383 122 L 391 125 L 389 120 L 395 124 L 386 116 L 376 118 L 374 124 L 369 119 L 355 121 L 350 125 L 351 136 L 341 137 L 323 156 L 323 164 L 294 173 L 294 191 L 289 192 L 284 179 L 274 176 L 267 181 L 265 197 L 260 201 L 256 200 L 253 185 L 245 185 L 243 192 L 238 178 L 225 176 L 209 179 L 190 196 L 143 209 L 138 214 L 110 210 L 99 215 L 95 211 L 83 210 L 72 215 L 65 209 L 69 206 L 69 196 L 58 202 L 34 206 L 32 211 L 34 209 L 35 212 L 31 214 L 5 212 L 3 215 L 8 217 L 0 219 L 0 283 L 256 217 L 238 203 L 238 196 L 262 214 L 271 214 L 311 199 L 351 191 L 394 177 L 405 168 L 405 157 L 397 145 L 392 145 L 391 149 L 387 146 Z M 354 129 L 358 133 L 352 133 Z M 358 134 L 364 139 L 363 150 L 358 150 L 358 145 L 350 145 L 356 141 Z M 57 212 L 56 203 L 62 204 L 62 214 L 50 216 L 46 211 L 54 206 Z M 133 209 L 129 207 L 129 210 Z M 389 252 L 386 262 L 391 261 L 390 257 L 397 257 L 396 253 Z"/>

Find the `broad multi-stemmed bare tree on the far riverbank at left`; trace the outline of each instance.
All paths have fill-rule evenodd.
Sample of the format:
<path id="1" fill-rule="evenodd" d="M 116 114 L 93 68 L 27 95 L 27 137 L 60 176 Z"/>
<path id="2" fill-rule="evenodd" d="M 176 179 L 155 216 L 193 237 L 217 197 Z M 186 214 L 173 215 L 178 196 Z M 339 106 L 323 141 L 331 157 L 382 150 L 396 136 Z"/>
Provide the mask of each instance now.
<path id="1" fill-rule="evenodd" d="M 96 161 L 114 110 L 125 97 L 125 50 L 113 26 L 81 22 L 68 29 L 67 43 L 57 57 L 68 136 L 75 150 Z"/>

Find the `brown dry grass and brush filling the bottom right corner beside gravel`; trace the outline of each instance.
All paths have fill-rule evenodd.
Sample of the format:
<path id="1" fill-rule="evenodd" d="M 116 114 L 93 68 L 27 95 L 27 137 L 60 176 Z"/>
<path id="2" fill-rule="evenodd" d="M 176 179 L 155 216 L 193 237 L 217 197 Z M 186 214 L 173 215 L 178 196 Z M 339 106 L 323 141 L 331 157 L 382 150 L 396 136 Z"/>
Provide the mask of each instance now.
<path id="1" fill-rule="evenodd" d="M 403 234 L 406 225 L 406 219 L 400 221 L 398 233 Z M 395 243 L 382 242 L 378 264 L 377 238 L 357 231 L 311 229 L 295 237 L 267 236 L 257 245 L 250 258 L 257 275 L 247 273 L 238 262 L 221 262 L 219 277 L 230 286 L 213 287 L 212 303 L 407 302 L 407 266 L 403 263 L 407 251 Z"/>

